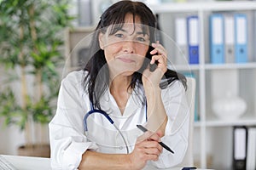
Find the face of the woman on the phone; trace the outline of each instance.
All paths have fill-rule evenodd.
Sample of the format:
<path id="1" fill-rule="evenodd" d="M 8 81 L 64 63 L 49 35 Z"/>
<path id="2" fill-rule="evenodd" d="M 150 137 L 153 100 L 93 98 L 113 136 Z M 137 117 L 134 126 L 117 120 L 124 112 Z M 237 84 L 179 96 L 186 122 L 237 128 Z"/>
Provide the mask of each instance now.
<path id="1" fill-rule="evenodd" d="M 126 14 L 124 26 L 118 27 L 113 35 L 110 34 L 112 26 L 105 34 L 100 33 L 100 47 L 104 50 L 110 76 L 131 76 L 143 65 L 150 41 L 148 29 L 143 31 L 140 23 L 138 17 L 134 22 L 133 15 Z"/>

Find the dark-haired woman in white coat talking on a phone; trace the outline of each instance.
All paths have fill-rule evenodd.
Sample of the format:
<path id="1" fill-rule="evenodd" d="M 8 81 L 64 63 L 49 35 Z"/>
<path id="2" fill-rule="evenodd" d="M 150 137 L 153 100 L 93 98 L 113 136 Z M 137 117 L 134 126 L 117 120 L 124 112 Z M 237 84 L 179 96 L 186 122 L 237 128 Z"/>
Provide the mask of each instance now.
<path id="1" fill-rule="evenodd" d="M 120 1 L 102 14 L 89 63 L 61 82 L 49 123 L 53 169 L 165 168 L 183 160 L 186 79 L 167 69 L 166 49 L 154 40 L 155 23 L 139 2 Z M 137 124 L 149 131 L 142 133 Z"/>

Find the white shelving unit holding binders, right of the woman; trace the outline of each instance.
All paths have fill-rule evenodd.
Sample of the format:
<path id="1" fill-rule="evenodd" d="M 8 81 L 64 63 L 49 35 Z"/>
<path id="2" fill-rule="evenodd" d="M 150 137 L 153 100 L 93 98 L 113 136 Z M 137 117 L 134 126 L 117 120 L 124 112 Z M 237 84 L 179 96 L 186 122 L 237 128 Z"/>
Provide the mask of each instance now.
<path id="1" fill-rule="evenodd" d="M 256 2 L 229 1 L 209 3 L 161 3 L 151 5 L 155 14 L 159 14 L 160 28 L 166 34 L 164 46 L 173 59 L 173 45 L 169 45 L 170 38 L 174 38 L 174 19 L 179 15 L 196 14 L 200 20 L 200 64 L 174 65 L 177 71 L 195 73 L 197 79 L 197 95 L 200 120 L 195 122 L 195 159 L 199 160 L 199 167 L 214 169 L 232 168 L 232 127 L 251 126 L 256 124 Z M 245 13 L 248 18 L 248 62 L 245 64 L 229 63 L 215 65 L 210 62 L 209 53 L 209 15 L 212 13 Z M 169 56 L 170 57 L 170 56 Z M 171 60 L 172 60 L 171 59 Z M 219 82 L 211 82 L 212 75 L 222 72 Z M 234 73 L 235 72 L 235 73 Z M 246 100 L 247 111 L 239 120 L 224 121 L 212 111 L 213 84 L 218 88 L 225 88 L 229 82 L 229 74 L 236 74 L 238 82 L 230 88 L 237 88 L 238 94 Z M 220 81 L 226 79 L 224 81 Z M 217 79 L 218 80 L 218 79 Z M 226 81 L 226 82 L 225 82 Z M 233 80 L 232 80 L 233 81 Z M 215 89 L 215 91 L 218 89 Z M 214 91 L 214 90 L 213 90 Z"/>

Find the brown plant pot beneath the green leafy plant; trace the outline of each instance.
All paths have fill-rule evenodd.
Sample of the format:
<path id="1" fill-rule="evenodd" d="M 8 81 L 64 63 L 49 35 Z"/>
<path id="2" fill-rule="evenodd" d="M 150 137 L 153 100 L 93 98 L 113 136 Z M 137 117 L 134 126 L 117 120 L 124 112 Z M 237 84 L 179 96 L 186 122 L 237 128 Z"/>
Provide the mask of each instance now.
<path id="1" fill-rule="evenodd" d="M 19 156 L 49 157 L 49 144 L 27 144 L 18 148 Z"/>

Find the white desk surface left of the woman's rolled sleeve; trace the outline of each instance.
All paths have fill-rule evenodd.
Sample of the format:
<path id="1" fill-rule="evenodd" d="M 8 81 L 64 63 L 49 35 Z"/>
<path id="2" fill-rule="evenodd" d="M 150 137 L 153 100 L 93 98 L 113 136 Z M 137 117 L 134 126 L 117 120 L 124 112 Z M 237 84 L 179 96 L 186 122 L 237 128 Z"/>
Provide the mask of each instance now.
<path id="1" fill-rule="evenodd" d="M 48 170 L 50 168 L 49 158 L 32 156 L 7 156 L 1 155 L 19 170 Z"/>

